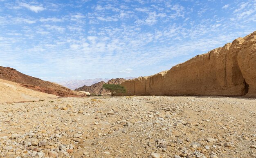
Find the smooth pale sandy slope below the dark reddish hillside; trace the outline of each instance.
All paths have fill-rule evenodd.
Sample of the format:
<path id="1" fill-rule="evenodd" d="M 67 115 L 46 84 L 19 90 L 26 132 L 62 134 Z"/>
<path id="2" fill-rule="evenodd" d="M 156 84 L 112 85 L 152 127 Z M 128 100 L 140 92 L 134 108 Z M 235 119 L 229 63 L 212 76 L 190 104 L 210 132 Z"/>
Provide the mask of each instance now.
<path id="1" fill-rule="evenodd" d="M 36 101 L 57 96 L 21 87 L 19 84 L 0 79 L 0 103 Z"/>

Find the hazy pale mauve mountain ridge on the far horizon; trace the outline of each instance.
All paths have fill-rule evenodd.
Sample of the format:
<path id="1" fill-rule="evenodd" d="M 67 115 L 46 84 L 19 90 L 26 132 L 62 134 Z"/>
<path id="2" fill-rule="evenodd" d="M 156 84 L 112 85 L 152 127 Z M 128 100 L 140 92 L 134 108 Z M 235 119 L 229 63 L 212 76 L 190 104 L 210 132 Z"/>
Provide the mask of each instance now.
<path id="1" fill-rule="evenodd" d="M 129 80 L 129 79 L 133 79 L 135 77 L 126 77 L 124 79 Z M 95 83 L 104 81 L 104 82 L 108 82 L 108 80 L 111 80 L 111 78 L 94 78 L 94 79 L 85 79 L 85 80 L 69 80 L 69 81 L 63 81 L 63 82 L 58 82 L 58 84 L 63 85 L 69 89 L 77 89 L 79 87 L 83 87 L 83 86 L 91 86 Z"/>

